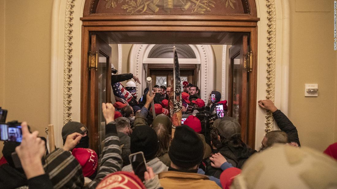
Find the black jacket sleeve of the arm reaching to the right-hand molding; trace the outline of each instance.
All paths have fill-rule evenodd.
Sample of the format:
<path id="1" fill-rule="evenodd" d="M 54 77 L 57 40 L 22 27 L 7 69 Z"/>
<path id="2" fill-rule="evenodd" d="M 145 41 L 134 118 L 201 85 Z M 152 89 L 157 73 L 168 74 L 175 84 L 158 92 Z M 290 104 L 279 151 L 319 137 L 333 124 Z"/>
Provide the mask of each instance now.
<path id="1" fill-rule="evenodd" d="M 281 131 L 287 133 L 288 142 L 296 142 L 298 146 L 301 146 L 297 129 L 288 117 L 279 109 L 274 111 L 273 117 Z"/>

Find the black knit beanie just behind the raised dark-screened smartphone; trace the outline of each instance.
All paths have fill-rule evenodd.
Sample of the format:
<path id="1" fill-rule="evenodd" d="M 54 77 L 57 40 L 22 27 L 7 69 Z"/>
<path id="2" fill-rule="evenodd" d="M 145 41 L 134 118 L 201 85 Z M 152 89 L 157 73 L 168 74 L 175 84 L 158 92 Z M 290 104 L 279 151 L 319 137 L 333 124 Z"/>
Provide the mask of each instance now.
<path id="1" fill-rule="evenodd" d="M 156 132 L 147 125 L 136 126 L 133 128 L 130 137 L 130 151 L 136 153 L 142 151 L 146 160 L 155 157 L 159 148 Z"/>

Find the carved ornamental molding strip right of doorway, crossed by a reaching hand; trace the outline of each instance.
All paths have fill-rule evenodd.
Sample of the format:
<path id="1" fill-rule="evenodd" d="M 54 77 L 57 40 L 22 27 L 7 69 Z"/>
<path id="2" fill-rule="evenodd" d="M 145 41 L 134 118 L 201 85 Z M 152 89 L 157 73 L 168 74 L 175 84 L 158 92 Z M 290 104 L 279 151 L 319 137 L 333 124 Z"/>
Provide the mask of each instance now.
<path id="1" fill-rule="evenodd" d="M 275 64 L 276 64 L 276 7 L 275 0 L 267 0 L 267 19 L 268 19 L 268 62 L 267 62 L 267 99 L 275 100 Z M 272 112 L 266 113 L 266 132 L 274 130 L 274 117 Z"/>

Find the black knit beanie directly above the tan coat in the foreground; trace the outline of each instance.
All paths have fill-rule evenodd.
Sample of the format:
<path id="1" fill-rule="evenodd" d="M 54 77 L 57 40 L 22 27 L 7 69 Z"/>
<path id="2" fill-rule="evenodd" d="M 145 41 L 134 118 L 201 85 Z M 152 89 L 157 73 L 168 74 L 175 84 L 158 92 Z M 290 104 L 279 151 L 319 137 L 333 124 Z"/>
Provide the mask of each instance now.
<path id="1" fill-rule="evenodd" d="M 193 129 L 182 125 L 176 128 L 168 155 L 175 165 L 191 168 L 203 160 L 204 144 Z"/>

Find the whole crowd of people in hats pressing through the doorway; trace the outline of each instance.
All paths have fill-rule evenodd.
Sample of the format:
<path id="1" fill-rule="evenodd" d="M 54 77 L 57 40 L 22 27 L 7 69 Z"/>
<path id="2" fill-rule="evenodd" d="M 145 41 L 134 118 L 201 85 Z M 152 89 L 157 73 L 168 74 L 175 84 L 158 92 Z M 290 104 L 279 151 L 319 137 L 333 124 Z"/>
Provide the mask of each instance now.
<path id="1" fill-rule="evenodd" d="M 114 77 L 114 82 L 125 78 L 139 82 L 132 74 Z M 227 115 L 220 92 L 212 91 L 205 103 L 200 89 L 184 82 L 183 123 L 172 127 L 168 100 L 174 88 L 154 86 L 152 95 L 147 88 L 139 100 L 136 88 L 132 81 L 126 85 L 133 96 L 130 103 L 102 104 L 100 154 L 89 148 L 88 128 L 79 122 L 64 125 L 63 148 L 52 152 L 23 122 L 22 142 L 4 143 L 0 188 L 337 187 L 337 143 L 324 153 L 301 147 L 296 127 L 271 100 L 259 100 L 258 105 L 272 112 L 280 130 L 266 133 L 256 151 L 243 142 L 241 126 Z M 129 158 L 137 152 L 146 161 L 141 176 Z"/>

